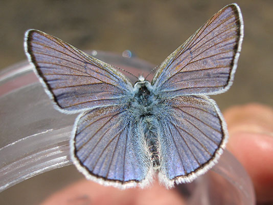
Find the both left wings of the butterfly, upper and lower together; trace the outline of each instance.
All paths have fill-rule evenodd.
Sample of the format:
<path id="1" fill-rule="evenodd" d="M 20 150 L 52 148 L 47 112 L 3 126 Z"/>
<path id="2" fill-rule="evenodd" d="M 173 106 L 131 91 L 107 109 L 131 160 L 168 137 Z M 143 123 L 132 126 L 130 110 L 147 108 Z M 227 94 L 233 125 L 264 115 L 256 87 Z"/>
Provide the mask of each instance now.
<path id="1" fill-rule="evenodd" d="M 149 154 L 139 124 L 127 112 L 131 82 L 110 65 L 37 30 L 26 32 L 26 53 L 55 108 L 82 112 L 71 157 L 86 178 L 119 188 L 145 186 Z"/>

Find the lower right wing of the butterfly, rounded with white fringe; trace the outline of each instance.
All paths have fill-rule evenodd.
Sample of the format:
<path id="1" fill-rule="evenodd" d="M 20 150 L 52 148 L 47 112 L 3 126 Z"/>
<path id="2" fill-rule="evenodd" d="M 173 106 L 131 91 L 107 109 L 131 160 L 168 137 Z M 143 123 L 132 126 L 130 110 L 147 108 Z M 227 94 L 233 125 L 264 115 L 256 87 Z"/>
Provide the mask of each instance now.
<path id="1" fill-rule="evenodd" d="M 206 95 L 187 95 L 166 101 L 169 112 L 158 120 L 162 164 L 160 181 L 190 182 L 217 161 L 228 135 L 215 102 Z"/>

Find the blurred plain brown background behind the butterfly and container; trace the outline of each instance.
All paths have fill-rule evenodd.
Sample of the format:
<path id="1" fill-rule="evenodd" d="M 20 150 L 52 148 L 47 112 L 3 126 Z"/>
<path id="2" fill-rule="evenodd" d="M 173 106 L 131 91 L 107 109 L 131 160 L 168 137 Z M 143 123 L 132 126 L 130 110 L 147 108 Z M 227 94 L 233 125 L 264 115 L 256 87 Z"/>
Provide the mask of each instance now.
<path id="1" fill-rule="evenodd" d="M 0 1 L 0 69 L 26 60 L 24 32 L 33 28 L 81 50 L 129 49 L 154 65 L 231 1 Z M 231 89 L 213 96 L 223 110 L 256 101 L 273 105 L 273 2 L 237 1 L 244 40 Z M 2 193 L 0 204 L 37 204 L 81 178 L 73 166 L 26 180 Z"/>

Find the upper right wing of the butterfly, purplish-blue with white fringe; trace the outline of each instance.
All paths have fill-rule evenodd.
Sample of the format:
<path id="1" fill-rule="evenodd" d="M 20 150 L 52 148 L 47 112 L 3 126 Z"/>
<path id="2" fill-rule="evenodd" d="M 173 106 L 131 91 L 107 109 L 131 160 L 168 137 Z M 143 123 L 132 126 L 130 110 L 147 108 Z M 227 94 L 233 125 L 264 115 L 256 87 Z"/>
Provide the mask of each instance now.
<path id="1" fill-rule="evenodd" d="M 160 65 L 152 79 L 156 93 L 175 97 L 225 92 L 233 82 L 242 37 L 240 8 L 224 7 Z"/>

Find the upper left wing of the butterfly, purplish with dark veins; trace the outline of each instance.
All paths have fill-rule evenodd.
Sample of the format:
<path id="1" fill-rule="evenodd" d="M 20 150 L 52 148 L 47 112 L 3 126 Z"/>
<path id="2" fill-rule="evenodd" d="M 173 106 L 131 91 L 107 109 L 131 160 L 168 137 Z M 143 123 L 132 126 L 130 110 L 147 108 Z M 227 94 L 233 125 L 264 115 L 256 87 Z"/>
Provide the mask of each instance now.
<path id="1" fill-rule="evenodd" d="M 59 38 L 37 30 L 25 38 L 26 54 L 61 112 L 120 105 L 133 88 L 122 73 Z"/>

